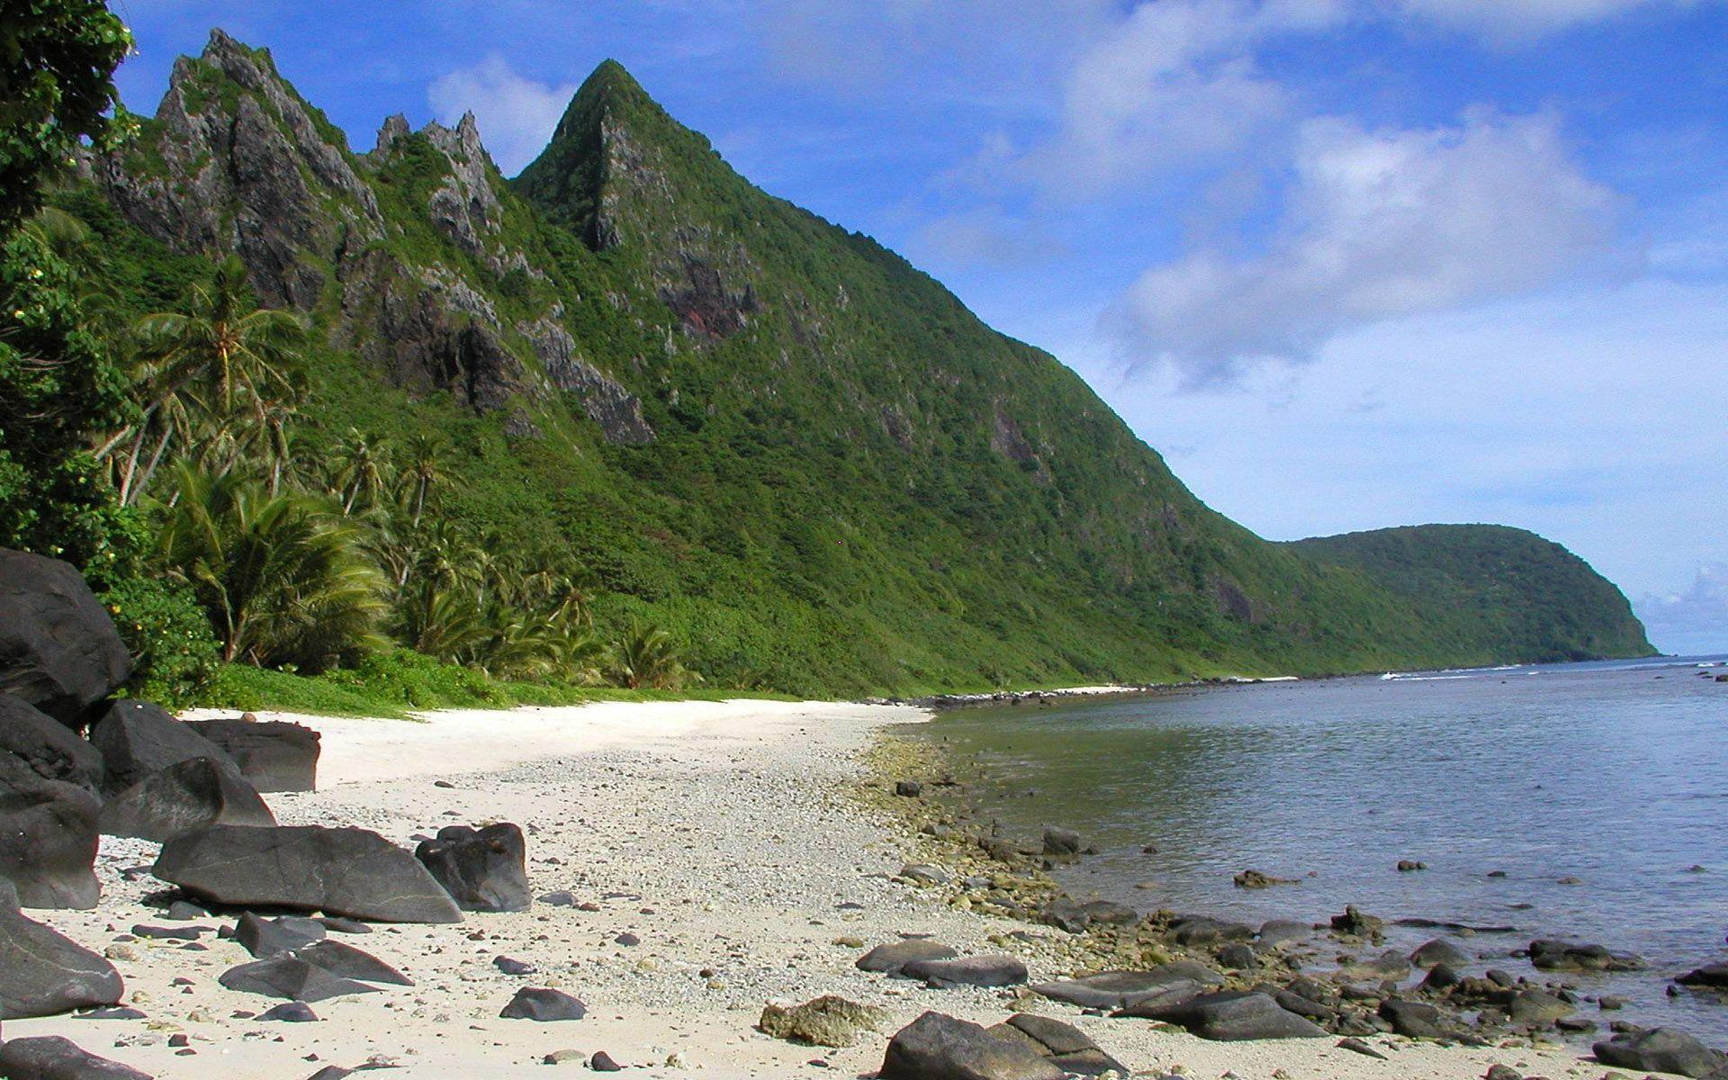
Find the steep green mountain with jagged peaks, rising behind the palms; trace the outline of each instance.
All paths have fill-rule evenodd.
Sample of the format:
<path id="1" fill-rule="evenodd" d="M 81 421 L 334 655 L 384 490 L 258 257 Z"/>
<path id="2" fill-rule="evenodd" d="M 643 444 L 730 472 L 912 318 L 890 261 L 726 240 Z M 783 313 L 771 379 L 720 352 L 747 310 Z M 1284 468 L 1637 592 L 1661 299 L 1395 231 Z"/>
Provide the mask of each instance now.
<path id="1" fill-rule="evenodd" d="M 613 62 L 506 180 L 472 116 L 391 118 L 354 152 L 268 52 L 213 31 L 86 176 L 62 206 L 123 302 L 173 302 L 237 252 L 263 302 L 311 313 L 308 453 L 349 427 L 451 435 L 444 513 L 581 560 L 601 619 L 660 622 L 722 684 L 1649 651 L 1614 586 L 1552 544 L 1528 551 L 1552 574 L 1503 579 L 1452 530 L 1400 532 L 1414 575 L 1344 541 L 1261 541 L 1073 372 L 752 187 Z"/>

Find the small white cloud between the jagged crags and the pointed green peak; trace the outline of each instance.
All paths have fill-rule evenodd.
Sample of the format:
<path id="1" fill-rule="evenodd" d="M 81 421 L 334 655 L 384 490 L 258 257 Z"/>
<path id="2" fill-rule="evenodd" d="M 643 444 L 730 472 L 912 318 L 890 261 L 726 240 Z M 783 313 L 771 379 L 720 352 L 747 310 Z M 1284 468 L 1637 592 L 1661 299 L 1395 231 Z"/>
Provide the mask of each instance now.
<path id="1" fill-rule="evenodd" d="M 492 54 L 473 67 L 434 79 L 427 86 L 427 104 L 446 124 L 473 112 L 487 152 L 510 176 L 546 149 L 575 90 L 575 83 L 553 86 L 522 78 L 505 57 Z"/>

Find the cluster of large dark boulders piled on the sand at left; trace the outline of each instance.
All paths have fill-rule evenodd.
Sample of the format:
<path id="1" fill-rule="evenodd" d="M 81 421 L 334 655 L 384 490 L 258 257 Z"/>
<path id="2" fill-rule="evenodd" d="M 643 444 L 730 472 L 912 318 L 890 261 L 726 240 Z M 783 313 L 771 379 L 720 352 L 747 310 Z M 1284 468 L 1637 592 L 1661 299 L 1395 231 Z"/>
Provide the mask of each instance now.
<path id="1" fill-rule="evenodd" d="M 128 676 L 111 613 L 73 567 L 0 551 L 0 1020 L 121 1002 L 107 957 L 21 911 L 95 907 L 104 835 L 161 843 L 149 873 L 175 886 L 157 893 L 169 921 L 238 916 L 219 933 L 252 959 L 218 982 L 283 1002 L 259 1020 L 314 1021 L 313 1002 L 413 985 L 332 933 L 530 905 L 515 824 L 448 826 L 413 852 L 359 828 L 278 826 L 261 791 L 313 790 L 318 733 L 251 717 L 181 722 L 114 698 Z M 131 937 L 195 943 L 209 930 L 138 924 Z M 574 1020 L 582 1004 L 524 988 L 503 1016 Z M 0 1075 L 142 1073 L 64 1039 L 14 1039 Z"/>

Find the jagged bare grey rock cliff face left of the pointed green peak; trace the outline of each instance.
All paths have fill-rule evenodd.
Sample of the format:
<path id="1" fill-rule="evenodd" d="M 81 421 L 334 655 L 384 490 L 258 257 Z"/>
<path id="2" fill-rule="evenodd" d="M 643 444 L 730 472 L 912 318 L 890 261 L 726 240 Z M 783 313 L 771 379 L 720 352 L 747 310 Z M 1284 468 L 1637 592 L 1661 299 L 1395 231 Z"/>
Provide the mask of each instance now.
<path id="1" fill-rule="evenodd" d="M 175 64 L 140 143 L 90 171 L 157 240 L 240 256 L 261 302 L 332 314 L 334 344 L 399 385 L 475 410 L 569 392 L 608 439 L 653 439 L 641 403 L 581 359 L 558 302 L 499 311 L 499 282 L 546 275 L 508 235 L 511 195 L 472 114 L 418 133 L 392 116 L 358 156 L 268 52 L 218 29 Z"/>

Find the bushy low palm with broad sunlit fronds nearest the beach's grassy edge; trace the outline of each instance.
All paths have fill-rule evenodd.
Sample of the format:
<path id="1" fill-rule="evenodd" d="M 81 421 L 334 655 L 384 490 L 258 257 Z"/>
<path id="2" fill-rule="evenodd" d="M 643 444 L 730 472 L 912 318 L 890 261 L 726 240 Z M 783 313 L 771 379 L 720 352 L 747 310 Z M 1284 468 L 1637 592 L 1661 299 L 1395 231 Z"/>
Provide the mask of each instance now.
<path id="1" fill-rule="evenodd" d="M 380 643 L 384 577 L 318 498 L 176 468 L 157 558 L 209 615 L 223 660 L 321 670 Z"/>

